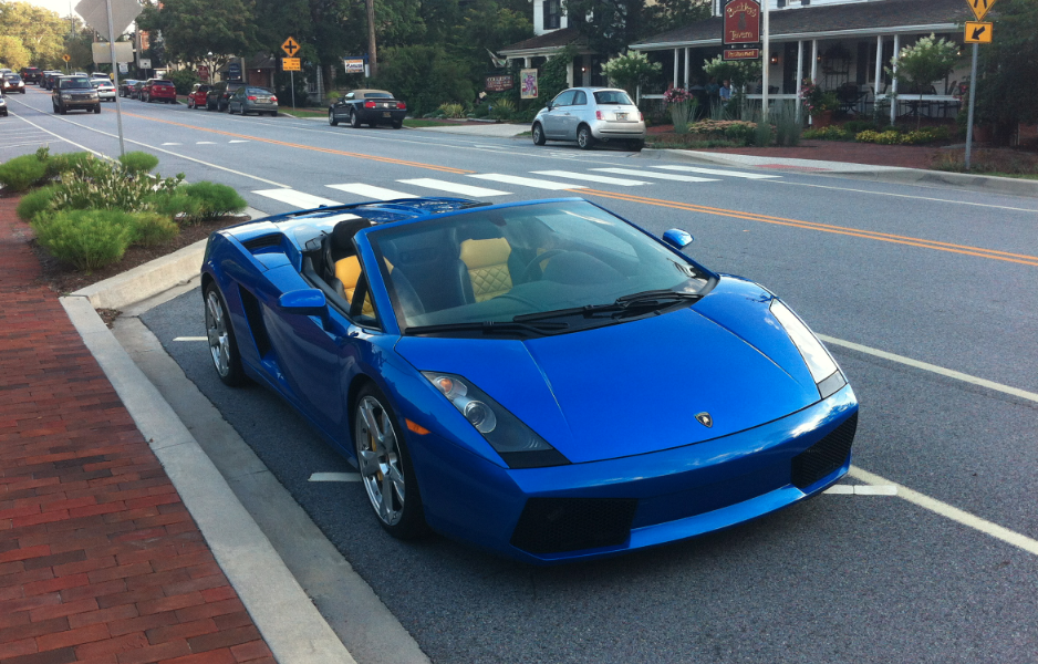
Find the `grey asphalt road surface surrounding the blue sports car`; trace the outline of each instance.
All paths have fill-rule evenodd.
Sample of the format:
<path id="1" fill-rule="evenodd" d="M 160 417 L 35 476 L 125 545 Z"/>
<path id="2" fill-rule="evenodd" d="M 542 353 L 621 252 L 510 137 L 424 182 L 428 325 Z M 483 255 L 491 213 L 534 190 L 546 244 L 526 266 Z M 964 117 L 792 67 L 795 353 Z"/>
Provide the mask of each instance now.
<path id="1" fill-rule="evenodd" d="M 113 106 L 55 116 L 31 89 L 11 103 L 19 117 L 2 125 L 0 158 L 44 137 L 55 151 L 74 149 L 61 137 L 117 154 Z M 500 201 L 583 195 L 653 232 L 689 230 L 696 259 L 764 283 L 819 333 L 1038 392 L 1035 199 L 774 169 L 681 172 L 662 167 L 687 162 L 647 153 L 133 101 L 125 111 L 137 142 L 127 149 L 155 152 L 164 175 L 231 185 L 264 211 L 293 209 L 272 196 L 300 193 L 366 199 L 357 184 L 414 195 L 461 184 L 501 191 L 487 196 Z M 593 190 L 473 177 L 490 174 Z M 294 194 L 272 191 L 284 189 Z M 1038 662 L 1038 558 L 897 497 L 826 495 L 722 533 L 552 569 L 438 537 L 392 540 L 361 485 L 308 481 L 349 466 L 288 407 L 258 387 L 224 387 L 204 343 L 175 341 L 204 335 L 201 315 L 193 292 L 143 320 L 434 662 Z M 830 347 L 862 404 L 857 466 L 1038 539 L 1038 404 Z"/>

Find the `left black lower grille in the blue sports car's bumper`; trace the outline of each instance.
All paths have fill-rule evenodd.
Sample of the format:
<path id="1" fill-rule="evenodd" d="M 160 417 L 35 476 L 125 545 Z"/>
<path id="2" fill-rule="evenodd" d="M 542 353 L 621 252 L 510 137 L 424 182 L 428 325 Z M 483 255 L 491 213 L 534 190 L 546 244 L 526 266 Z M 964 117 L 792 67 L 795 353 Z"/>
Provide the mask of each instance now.
<path id="1" fill-rule="evenodd" d="M 530 553 L 559 553 L 627 541 L 635 498 L 530 498 L 511 544 Z"/>

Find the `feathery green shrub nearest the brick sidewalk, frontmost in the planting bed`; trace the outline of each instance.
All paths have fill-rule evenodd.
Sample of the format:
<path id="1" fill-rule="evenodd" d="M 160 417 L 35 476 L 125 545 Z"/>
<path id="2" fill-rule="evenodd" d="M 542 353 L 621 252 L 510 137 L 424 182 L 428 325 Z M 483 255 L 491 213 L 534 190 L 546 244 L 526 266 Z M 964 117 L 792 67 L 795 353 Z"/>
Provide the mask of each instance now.
<path id="1" fill-rule="evenodd" d="M 123 258 L 134 239 L 131 215 L 120 210 L 63 210 L 32 221 L 37 240 L 52 256 L 89 274 Z"/>

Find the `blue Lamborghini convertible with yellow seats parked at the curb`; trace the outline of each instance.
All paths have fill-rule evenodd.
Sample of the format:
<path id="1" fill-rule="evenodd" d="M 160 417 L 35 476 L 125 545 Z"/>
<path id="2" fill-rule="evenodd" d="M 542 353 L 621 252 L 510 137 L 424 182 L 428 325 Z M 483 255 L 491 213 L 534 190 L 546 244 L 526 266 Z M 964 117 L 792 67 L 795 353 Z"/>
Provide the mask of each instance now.
<path id="1" fill-rule="evenodd" d="M 209 238 L 212 362 L 355 464 L 380 523 L 519 560 L 740 523 L 847 473 L 858 400 L 780 299 L 582 199 L 415 198 Z"/>

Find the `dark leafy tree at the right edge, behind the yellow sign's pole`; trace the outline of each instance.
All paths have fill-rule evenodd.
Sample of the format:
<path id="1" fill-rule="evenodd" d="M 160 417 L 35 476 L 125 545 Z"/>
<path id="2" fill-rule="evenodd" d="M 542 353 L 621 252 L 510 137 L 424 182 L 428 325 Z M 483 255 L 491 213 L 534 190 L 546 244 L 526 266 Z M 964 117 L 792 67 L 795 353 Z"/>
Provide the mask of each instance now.
<path id="1" fill-rule="evenodd" d="M 1000 0 L 998 38 L 980 45 L 977 64 L 978 123 L 994 125 L 994 142 L 1007 145 L 1021 122 L 1038 122 L 1038 3 Z"/>

